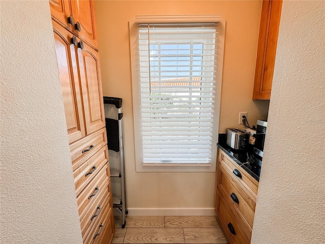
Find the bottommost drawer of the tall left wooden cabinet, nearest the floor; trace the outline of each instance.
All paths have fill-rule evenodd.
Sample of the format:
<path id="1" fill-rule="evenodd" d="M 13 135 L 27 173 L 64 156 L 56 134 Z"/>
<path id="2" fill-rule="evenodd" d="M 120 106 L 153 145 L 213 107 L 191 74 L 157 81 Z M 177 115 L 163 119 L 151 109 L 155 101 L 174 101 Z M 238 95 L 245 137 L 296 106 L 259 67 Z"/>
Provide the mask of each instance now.
<path id="1" fill-rule="evenodd" d="M 92 243 L 101 243 L 101 239 L 103 236 L 105 236 L 105 233 L 108 231 L 111 232 L 111 235 L 113 235 L 113 228 L 112 228 L 112 221 L 111 216 L 113 214 L 113 208 L 106 209 L 106 212 L 104 212 L 104 215 L 101 216 L 100 219 L 97 219 L 92 226 L 92 228 L 89 230 L 88 235 L 84 239 L 84 244 L 92 244 Z M 97 235 L 98 234 L 98 235 Z M 109 243 L 109 240 L 103 241 L 103 243 Z"/>

